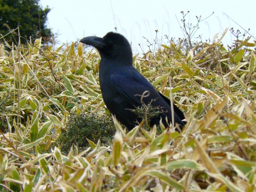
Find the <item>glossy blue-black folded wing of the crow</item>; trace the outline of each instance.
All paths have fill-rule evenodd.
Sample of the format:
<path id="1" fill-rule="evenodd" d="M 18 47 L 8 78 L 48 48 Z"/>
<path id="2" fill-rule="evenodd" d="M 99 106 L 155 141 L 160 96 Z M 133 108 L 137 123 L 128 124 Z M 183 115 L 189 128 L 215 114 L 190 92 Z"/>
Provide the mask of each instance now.
<path id="1" fill-rule="evenodd" d="M 129 104 L 132 106 L 141 105 L 141 96 L 143 93 L 145 93 L 145 91 L 148 91 L 149 95 L 145 93 L 147 97 L 143 97 L 143 102 L 147 104 L 153 101 L 151 103 L 153 106 L 167 110 L 165 113 L 161 113 L 160 116 L 162 119 L 167 117 L 168 122 L 172 122 L 172 112 L 169 99 L 157 92 L 152 84 L 145 79 L 145 77 L 133 69 L 126 69 L 122 72 L 119 71 L 118 73 L 111 75 L 113 88 L 125 102 L 129 102 Z M 182 121 L 183 119 L 185 119 L 184 114 L 174 104 L 174 121 L 183 127 L 186 124 L 184 121 Z"/>

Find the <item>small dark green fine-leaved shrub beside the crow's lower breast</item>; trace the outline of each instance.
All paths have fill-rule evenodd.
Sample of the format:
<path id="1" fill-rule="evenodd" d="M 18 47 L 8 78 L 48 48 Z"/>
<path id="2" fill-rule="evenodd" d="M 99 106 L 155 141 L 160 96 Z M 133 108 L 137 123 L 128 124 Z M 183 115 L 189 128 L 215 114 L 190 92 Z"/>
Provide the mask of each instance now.
<path id="1" fill-rule="evenodd" d="M 111 116 L 97 114 L 71 114 L 67 130 L 61 133 L 57 143 L 63 153 L 68 153 L 74 144 L 81 150 L 90 146 L 87 139 L 102 145 L 109 145 L 116 128 Z"/>

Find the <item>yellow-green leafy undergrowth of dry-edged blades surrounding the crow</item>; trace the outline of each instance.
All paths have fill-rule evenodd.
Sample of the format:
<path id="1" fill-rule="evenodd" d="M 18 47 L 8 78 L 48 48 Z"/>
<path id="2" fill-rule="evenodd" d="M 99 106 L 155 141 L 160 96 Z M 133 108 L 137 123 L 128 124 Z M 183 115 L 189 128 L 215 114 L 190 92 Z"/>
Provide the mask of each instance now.
<path id="1" fill-rule="evenodd" d="M 110 145 L 88 139 L 91 147 L 68 154 L 56 143 L 76 121 L 70 114 L 109 113 L 98 54 L 40 39 L 2 46 L 0 191 L 255 191 L 255 44 L 247 38 L 226 49 L 216 40 L 187 51 L 172 41 L 135 55 L 137 70 L 186 114 L 183 132 L 142 124 L 126 132 L 114 119 Z M 83 137 L 77 129 L 74 138 Z"/>

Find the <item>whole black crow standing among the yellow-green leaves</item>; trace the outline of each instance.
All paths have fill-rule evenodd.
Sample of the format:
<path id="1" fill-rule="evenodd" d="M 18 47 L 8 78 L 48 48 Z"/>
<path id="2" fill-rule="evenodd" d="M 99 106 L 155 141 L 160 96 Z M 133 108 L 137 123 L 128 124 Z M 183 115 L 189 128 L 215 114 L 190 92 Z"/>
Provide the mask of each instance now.
<path id="1" fill-rule="evenodd" d="M 162 123 L 168 127 L 172 122 L 170 101 L 157 92 L 152 84 L 133 67 L 132 49 L 127 39 L 119 33 L 109 32 L 103 38 L 84 37 L 83 44 L 95 47 L 101 60 L 99 63 L 99 82 L 102 98 L 108 110 L 117 120 L 132 130 L 142 120 L 135 109 L 142 102 L 151 104 L 160 111 L 150 119 L 150 125 Z M 143 97 L 142 97 L 143 95 Z M 167 119 L 167 122 L 166 122 Z M 184 114 L 174 104 L 174 122 L 179 129 L 186 124 Z"/>

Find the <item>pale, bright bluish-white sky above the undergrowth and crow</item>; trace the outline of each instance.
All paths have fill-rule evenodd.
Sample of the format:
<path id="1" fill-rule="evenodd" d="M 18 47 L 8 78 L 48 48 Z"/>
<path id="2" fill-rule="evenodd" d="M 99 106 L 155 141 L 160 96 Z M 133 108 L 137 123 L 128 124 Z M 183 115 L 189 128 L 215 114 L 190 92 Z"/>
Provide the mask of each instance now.
<path id="1" fill-rule="evenodd" d="M 242 2 L 242 3 L 241 3 Z M 123 34 L 130 42 L 134 52 L 142 52 L 141 44 L 147 51 L 147 38 L 154 42 L 157 34 L 158 44 L 166 42 L 164 35 L 184 37 L 180 29 L 181 11 L 190 11 L 187 23 L 196 24 L 196 15 L 209 18 L 199 24 L 195 37 L 203 40 L 219 36 L 227 27 L 234 29 L 250 28 L 249 33 L 256 37 L 255 0 L 41 0 L 42 7 L 51 8 L 48 25 L 58 33 L 59 44 L 76 41 L 84 36 L 104 36 L 109 31 Z M 240 27 L 240 26 L 242 27 Z M 224 44 L 231 44 L 233 36 L 228 32 Z"/>

